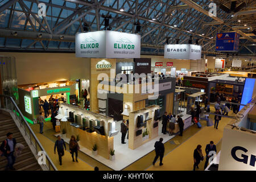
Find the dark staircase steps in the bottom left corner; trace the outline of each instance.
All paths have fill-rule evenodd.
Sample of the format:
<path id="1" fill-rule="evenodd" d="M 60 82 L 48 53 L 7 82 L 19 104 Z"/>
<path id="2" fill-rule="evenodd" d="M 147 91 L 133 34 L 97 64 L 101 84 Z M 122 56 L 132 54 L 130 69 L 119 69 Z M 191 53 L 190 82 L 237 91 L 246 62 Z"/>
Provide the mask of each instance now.
<path id="1" fill-rule="evenodd" d="M 3 140 L 6 139 L 6 134 L 8 132 L 13 133 L 13 138 L 16 139 L 17 143 L 22 143 L 24 145 L 24 149 L 22 154 L 20 154 L 14 164 L 14 168 L 16 171 L 42 171 L 42 168 L 38 164 L 38 160 L 36 160 L 35 156 L 32 154 L 30 147 L 26 140 L 23 138 L 23 135 L 20 133 L 16 123 L 11 118 L 10 114 L 1 111 L 0 113 L 0 142 L 2 144 Z M 5 166 L 7 165 L 7 159 L 5 156 L 0 156 L 0 171 L 5 170 Z"/>

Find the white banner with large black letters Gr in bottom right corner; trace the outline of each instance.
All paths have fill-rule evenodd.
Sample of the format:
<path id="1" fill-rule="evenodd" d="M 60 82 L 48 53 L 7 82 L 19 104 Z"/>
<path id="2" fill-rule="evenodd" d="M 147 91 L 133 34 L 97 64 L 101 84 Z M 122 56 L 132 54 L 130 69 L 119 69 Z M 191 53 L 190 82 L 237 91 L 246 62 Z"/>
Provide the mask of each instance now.
<path id="1" fill-rule="evenodd" d="M 218 171 L 255 171 L 256 135 L 224 129 Z"/>

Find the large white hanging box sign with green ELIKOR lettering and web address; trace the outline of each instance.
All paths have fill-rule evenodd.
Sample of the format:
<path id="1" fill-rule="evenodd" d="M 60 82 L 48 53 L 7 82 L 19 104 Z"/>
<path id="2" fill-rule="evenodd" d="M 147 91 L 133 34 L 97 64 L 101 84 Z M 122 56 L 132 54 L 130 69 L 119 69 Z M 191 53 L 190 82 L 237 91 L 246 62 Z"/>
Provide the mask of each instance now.
<path id="1" fill-rule="evenodd" d="M 76 57 L 139 58 L 141 35 L 116 31 L 76 34 Z"/>

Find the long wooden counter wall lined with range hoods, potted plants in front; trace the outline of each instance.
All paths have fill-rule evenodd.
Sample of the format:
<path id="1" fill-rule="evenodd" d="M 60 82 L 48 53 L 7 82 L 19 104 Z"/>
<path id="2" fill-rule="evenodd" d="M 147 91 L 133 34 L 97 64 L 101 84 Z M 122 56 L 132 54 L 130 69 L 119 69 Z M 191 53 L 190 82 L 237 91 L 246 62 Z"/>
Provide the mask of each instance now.
<path id="1" fill-rule="evenodd" d="M 64 140 L 68 142 L 72 135 L 79 136 L 82 147 L 92 150 L 96 144 L 98 155 L 109 159 L 110 148 L 114 150 L 113 136 L 118 133 L 113 118 L 68 104 L 60 104 L 59 113 L 61 133 L 63 129 L 67 133 Z"/>

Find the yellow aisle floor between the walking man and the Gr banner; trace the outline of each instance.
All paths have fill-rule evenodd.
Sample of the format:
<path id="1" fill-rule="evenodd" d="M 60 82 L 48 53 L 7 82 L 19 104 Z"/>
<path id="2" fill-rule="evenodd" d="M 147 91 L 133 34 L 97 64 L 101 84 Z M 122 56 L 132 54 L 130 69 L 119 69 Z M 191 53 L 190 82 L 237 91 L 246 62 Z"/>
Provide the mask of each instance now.
<path id="1" fill-rule="evenodd" d="M 233 113 L 230 115 L 234 115 Z M 210 118 L 214 121 L 213 115 Z M 156 162 L 155 166 L 147 168 L 148 171 L 191 171 L 193 169 L 193 151 L 198 144 L 201 144 L 203 155 L 205 156 L 205 146 L 213 140 L 214 144 L 220 142 L 223 137 L 224 127 L 230 122 L 230 118 L 222 117 L 218 129 L 214 129 L 214 126 L 204 127 L 186 142 L 181 144 L 175 150 L 169 154 L 165 154 L 163 158 L 163 166 L 159 166 L 159 162 Z M 220 150 L 220 145 L 217 146 L 217 151 Z M 203 170 L 204 162 L 201 162 L 199 169 Z"/>

